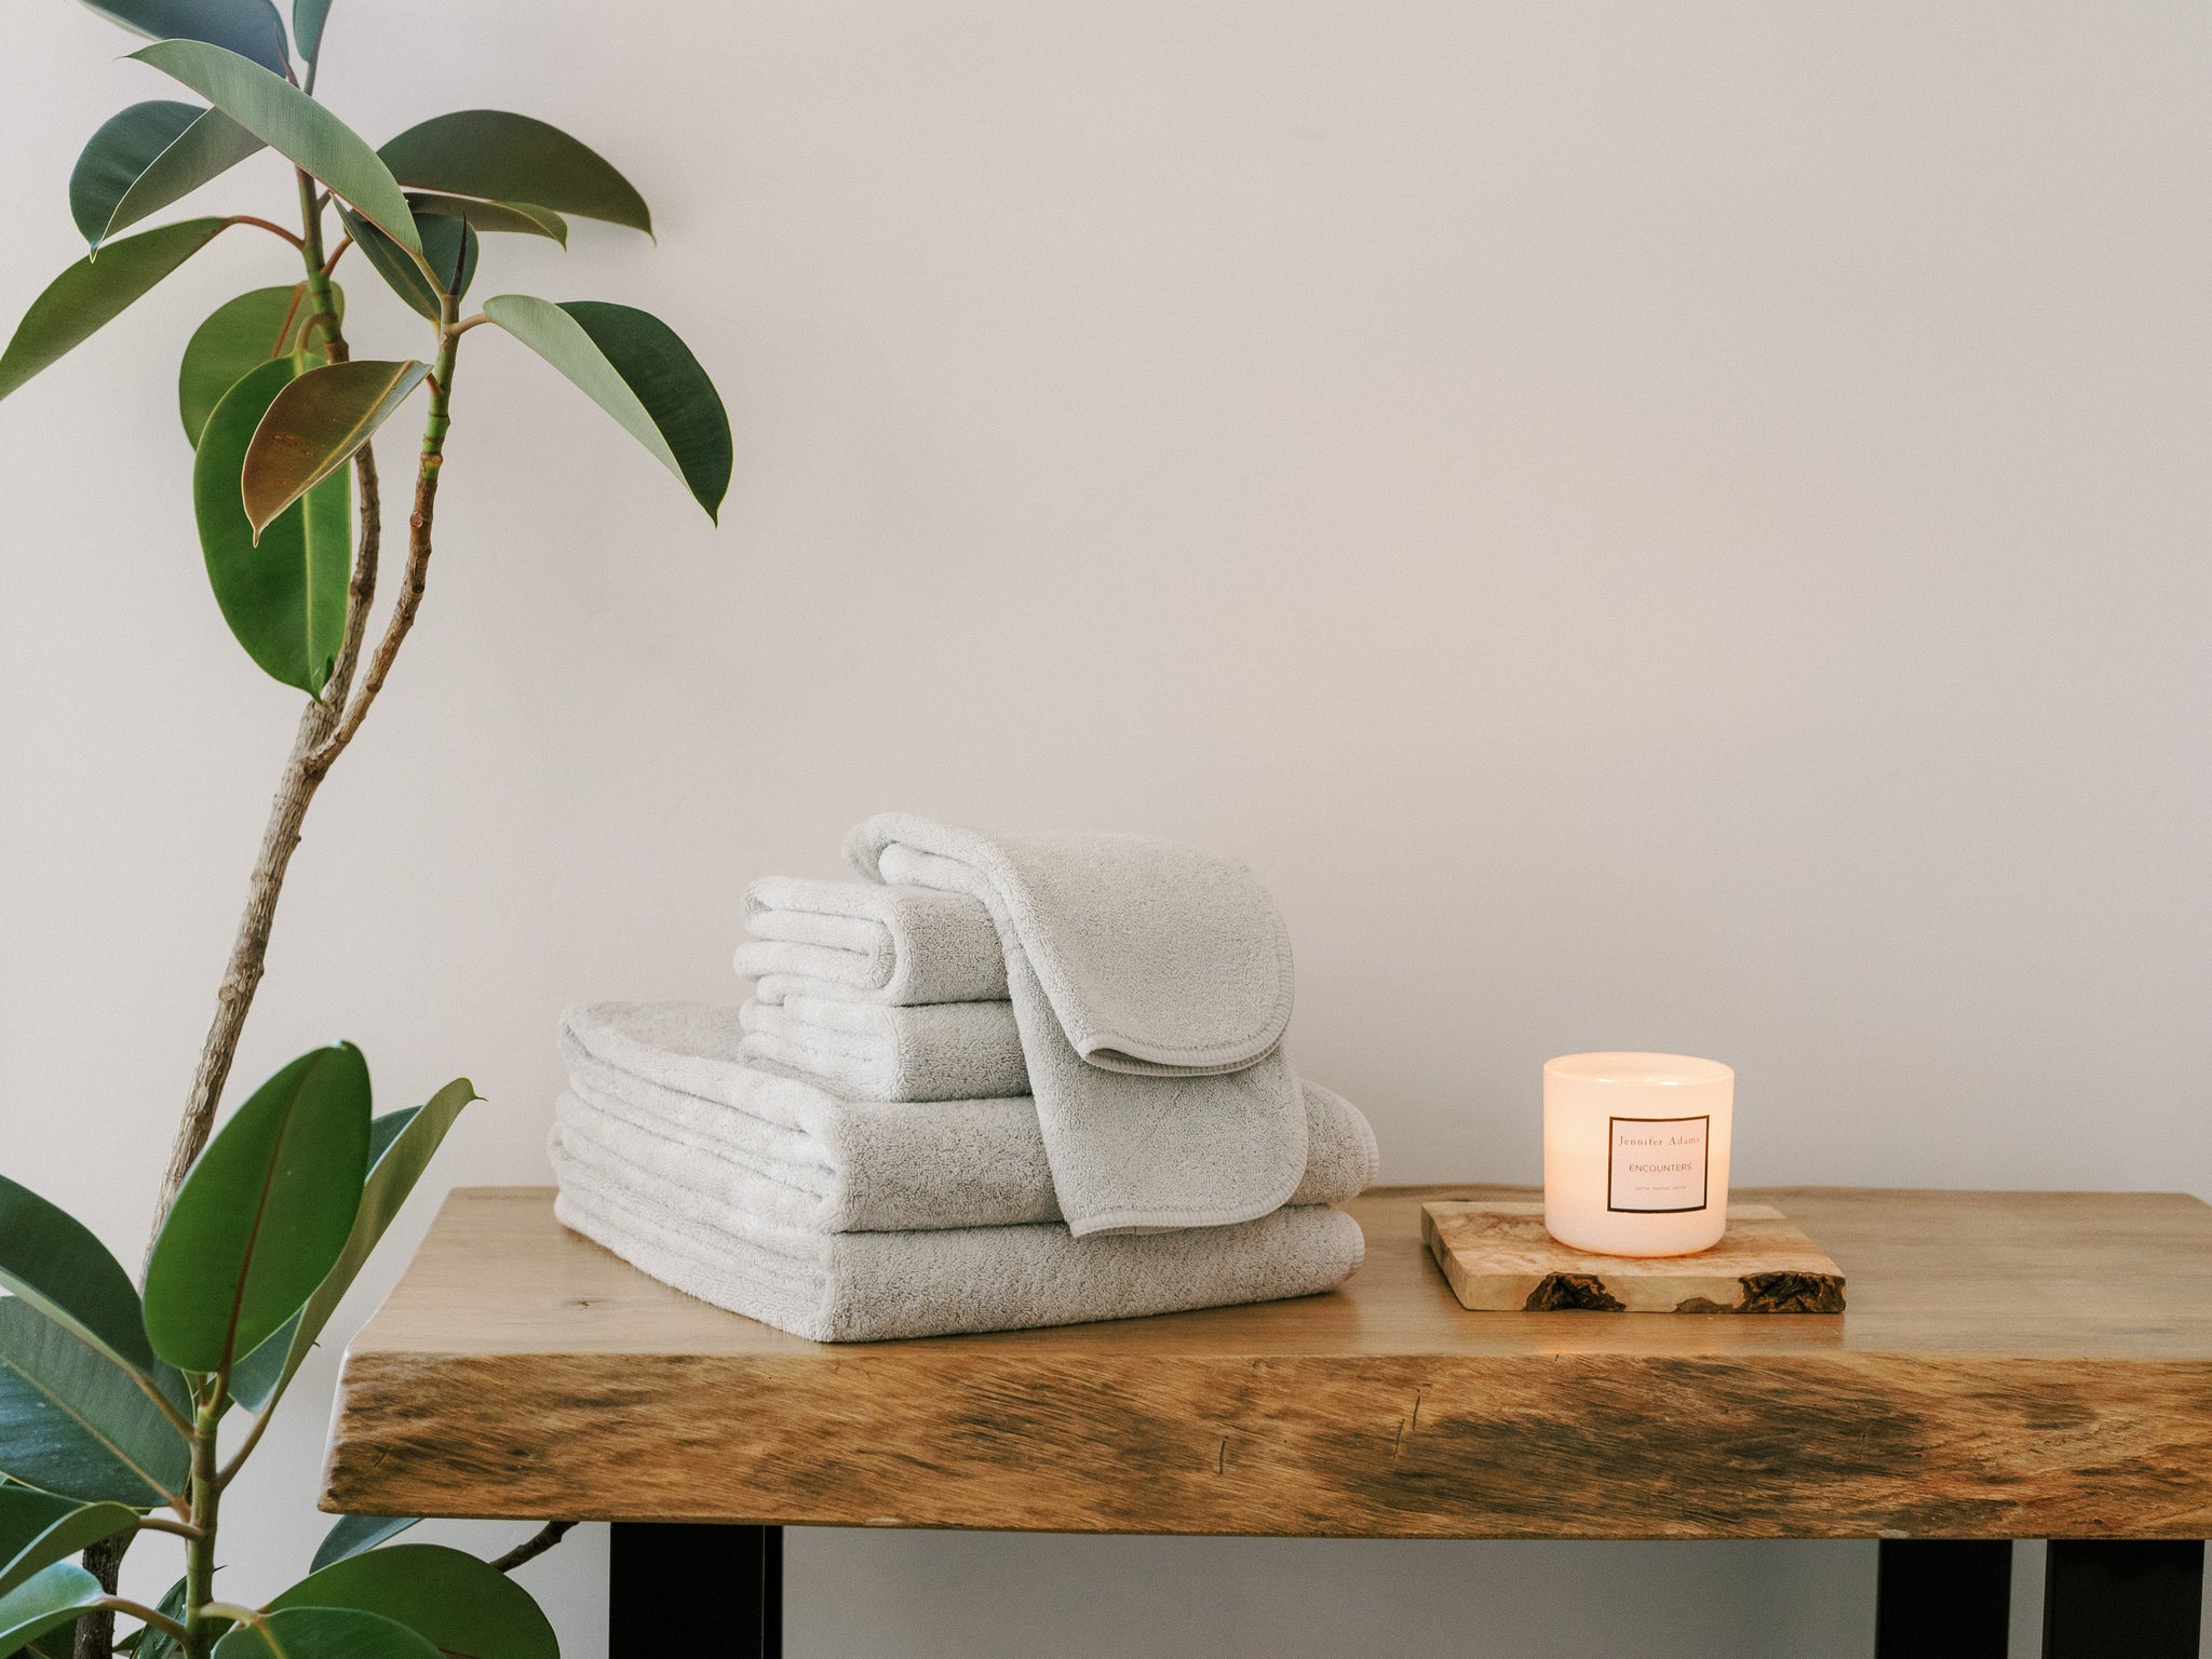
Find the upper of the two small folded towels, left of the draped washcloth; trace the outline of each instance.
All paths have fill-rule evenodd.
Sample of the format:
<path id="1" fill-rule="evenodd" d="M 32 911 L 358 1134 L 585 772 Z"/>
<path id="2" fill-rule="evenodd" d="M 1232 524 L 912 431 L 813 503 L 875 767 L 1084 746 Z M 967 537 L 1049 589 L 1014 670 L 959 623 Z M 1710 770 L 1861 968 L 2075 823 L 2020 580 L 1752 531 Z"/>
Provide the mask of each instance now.
<path id="1" fill-rule="evenodd" d="M 814 980 L 898 1009 L 1006 995 L 998 931 L 958 894 L 763 876 L 745 889 L 745 931 L 734 962 L 748 980 Z"/>

